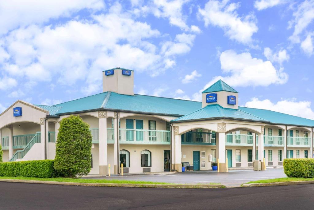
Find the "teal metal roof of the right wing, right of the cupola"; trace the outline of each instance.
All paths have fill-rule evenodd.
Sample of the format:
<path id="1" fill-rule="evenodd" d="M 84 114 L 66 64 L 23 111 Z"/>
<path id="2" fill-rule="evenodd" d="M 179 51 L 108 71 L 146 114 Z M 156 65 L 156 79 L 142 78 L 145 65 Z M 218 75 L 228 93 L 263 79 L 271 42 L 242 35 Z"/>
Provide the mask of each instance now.
<path id="1" fill-rule="evenodd" d="M 288 115 L 288 114 L 284 114 L 277 111 L 247 108 L 247 107 L 240 107 L 240 106 L 239 106 L 239 109 L 242 111 L 251 113 L 253 115 L 263 117 L 264 119 L 270 121 L 271 123 L 286 124 L 286 125 L 314 126 L 314 120 L 310 120 L 310 119 L 306 119 L 306 118 L 298 117 L 298 116 L 293 116 L 293 115 Z"/>

